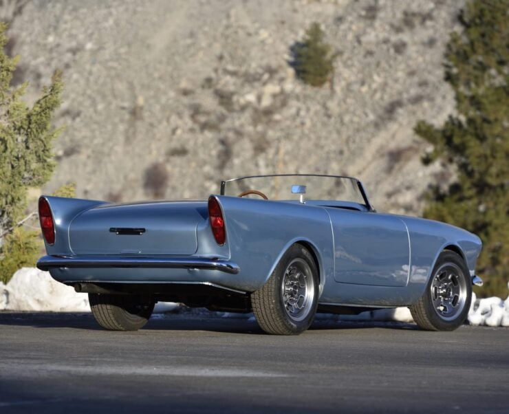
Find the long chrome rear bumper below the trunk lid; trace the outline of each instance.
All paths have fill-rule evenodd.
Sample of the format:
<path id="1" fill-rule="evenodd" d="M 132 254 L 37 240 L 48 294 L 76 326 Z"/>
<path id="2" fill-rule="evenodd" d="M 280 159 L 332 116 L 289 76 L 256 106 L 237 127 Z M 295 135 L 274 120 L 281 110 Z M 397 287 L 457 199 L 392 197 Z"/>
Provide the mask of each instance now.
<path id="1" fill-rule="evenodd" d="M 37 261 L 37 268 L 184 268 L 213 269 L 230 274 L 240 272 L 239 265 L 220 259 L 169 258 L 169 257 L 102 257 L 102 256 L 44 256 Z"/>

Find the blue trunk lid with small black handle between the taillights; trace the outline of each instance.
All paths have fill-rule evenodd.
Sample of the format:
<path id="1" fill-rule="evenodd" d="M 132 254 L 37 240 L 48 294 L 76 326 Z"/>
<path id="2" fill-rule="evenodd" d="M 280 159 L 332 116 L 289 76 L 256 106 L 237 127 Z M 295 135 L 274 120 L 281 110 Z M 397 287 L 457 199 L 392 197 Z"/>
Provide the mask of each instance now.
<path id="1" fill-rule="evenodd" d="M 188 255 L 196 252 L 197 225 L 207 217 L 205 201 L 103 205 L 72 220 L 69 243 L 77 255 Z"/>

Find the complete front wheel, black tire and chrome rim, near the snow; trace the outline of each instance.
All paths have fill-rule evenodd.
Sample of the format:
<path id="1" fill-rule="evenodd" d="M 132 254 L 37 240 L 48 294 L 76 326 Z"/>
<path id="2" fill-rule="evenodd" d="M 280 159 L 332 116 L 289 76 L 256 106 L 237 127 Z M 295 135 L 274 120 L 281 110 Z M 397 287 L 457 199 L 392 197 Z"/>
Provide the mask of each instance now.
<path id="1" fill-rule="evenodd" d="M 426 290 L 410 307 L 413 320 L 426 331 L 453 331 L 463 325 L 472 301 L 470 272 L 459 254 L 444 250 Z"/>

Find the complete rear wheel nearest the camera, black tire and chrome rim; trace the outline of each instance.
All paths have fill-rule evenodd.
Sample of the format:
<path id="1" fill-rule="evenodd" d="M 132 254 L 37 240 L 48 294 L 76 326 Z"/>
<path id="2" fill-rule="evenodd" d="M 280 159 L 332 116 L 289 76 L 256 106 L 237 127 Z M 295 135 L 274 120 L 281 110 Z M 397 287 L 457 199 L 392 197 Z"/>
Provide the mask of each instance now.
<path id="1" fill-rule="evenodd" d="M 310 327 L 318 307 L 318 268 L 310 252 L 292 245 L 251 303 L 267 334 L 298 335 Z"/>

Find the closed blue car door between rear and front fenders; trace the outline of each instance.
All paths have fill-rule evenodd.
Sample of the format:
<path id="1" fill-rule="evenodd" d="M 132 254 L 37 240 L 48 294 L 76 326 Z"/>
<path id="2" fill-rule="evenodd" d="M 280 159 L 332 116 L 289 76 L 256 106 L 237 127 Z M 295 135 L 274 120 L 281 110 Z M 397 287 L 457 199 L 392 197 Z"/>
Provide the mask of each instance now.
<path id="1" fill-rule="evenodd" d="M 336 282 L 407 285 L 409 233 L 399 217 L 343 208 L 327 208 L 327 211 L 334 235 Z"/>

